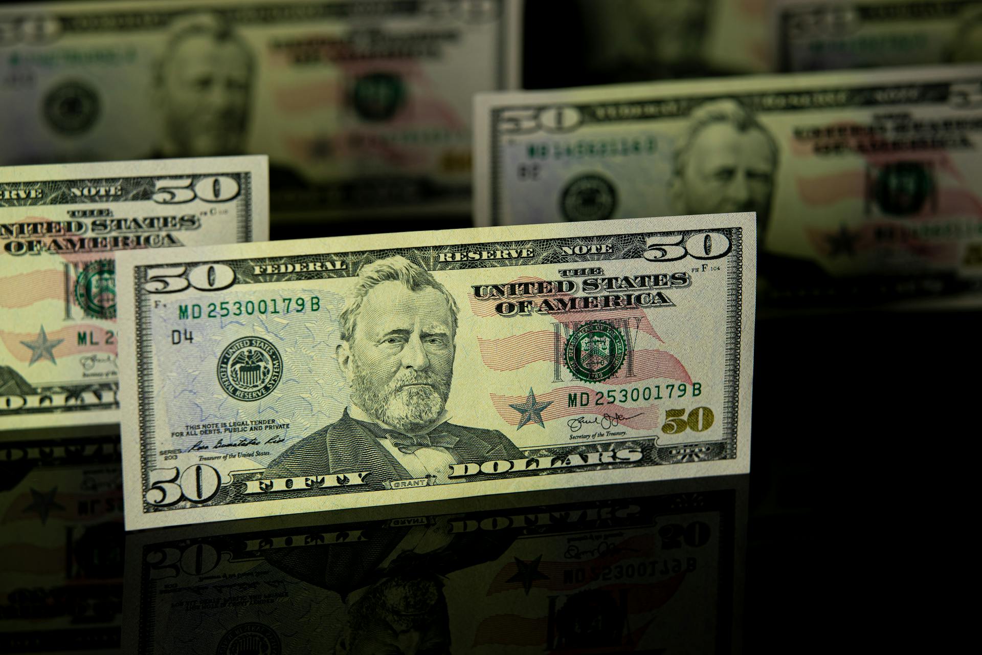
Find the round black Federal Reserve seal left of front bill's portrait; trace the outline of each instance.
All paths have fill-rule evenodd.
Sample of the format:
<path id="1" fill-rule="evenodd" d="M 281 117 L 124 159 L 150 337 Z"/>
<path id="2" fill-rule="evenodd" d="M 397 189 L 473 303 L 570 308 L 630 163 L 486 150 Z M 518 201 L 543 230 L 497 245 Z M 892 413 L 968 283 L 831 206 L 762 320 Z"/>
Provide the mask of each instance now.
<path id="1" fill-rule="evenodd" d="M 283 377 L 283 357 L 262 337 L 243 337 L 218 357 L 218 383 L 237 401 L 251 403 L 273 393 Z"/>

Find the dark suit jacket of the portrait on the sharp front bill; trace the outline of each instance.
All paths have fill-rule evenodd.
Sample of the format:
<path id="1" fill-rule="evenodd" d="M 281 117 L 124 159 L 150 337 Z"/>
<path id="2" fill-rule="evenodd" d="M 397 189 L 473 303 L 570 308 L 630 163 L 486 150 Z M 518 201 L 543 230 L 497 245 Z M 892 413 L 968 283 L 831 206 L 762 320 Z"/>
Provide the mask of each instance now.
<path id="1" fill-rule="evenodd" d="M 317 430 L 290 447 L 273 460 L 263 472 L 263 478 L 356 473 L 368 471 L 366 486 L 350 489 L 382 489 L 383 482 L 406 480 L 412 477 L 403 464 L 382 446 L 373 430 L 384 433 L 381 426 L 368 426 L 352 418 L 348 410 L 337 422 Z M 457 437 L 454 450 L 464 464 L 481 464 L 491 460 L 521 459 L 524 455 L 512 441 L 498 430 L 464 427 L 443 423 L 431 434 L 446 433 Z M 490 479 L 483 475 L 481 479 Z M 338 489 L 335 487 L 334 489 Z M 327 491 L 327 489 L 325 489 Z M 278 496 L 283 497 L 283 496 Z"/>

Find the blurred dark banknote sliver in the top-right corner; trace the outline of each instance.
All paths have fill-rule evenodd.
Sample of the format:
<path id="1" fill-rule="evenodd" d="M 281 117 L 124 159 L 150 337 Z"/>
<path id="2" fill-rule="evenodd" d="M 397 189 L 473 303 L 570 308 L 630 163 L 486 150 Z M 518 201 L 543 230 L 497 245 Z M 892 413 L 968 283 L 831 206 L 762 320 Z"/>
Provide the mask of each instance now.
<path id="1" fill-rule="evenodd" d="M 980 0 L 775 0 L 777 70 L 982 62 Z"/>

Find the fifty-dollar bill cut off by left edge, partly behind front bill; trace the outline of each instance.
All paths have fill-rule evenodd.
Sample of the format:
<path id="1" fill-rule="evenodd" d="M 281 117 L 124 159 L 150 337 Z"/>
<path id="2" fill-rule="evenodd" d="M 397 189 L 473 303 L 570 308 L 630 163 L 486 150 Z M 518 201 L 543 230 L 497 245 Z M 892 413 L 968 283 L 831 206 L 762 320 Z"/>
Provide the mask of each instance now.
<path id="1" fill-rule="evenodd" d="M 268 239 L 266 167 L 249 156 L 0 168 L 0 436 L 118 433 L 116 253 Z"/>

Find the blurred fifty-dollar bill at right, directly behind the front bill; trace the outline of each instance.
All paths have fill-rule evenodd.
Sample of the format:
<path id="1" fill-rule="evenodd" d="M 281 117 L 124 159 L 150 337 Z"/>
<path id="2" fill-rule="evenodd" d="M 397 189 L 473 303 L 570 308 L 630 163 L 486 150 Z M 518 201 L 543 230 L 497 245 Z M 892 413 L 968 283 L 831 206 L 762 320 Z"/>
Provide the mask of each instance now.
<path id="1" fill-rule="evenodd" d="M 478 225 L 755 211 L 761 304 L 982 298 L 982 67 L 497 93 L 475 112 Z"/>

